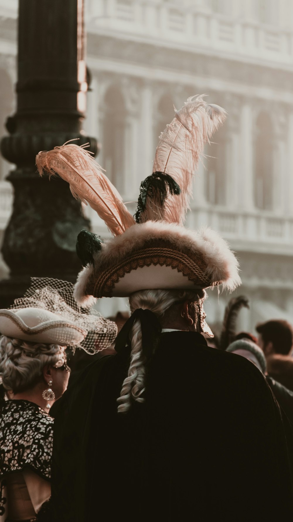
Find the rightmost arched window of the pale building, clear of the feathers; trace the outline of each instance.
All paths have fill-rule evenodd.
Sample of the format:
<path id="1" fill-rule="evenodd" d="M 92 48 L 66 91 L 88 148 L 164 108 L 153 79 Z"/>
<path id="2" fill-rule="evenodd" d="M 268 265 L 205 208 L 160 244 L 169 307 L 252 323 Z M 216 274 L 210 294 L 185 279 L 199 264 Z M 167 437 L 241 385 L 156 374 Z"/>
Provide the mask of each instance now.
<path id="1" fill-rule="evenodd" d="M 254 141 L 254 203 L 261 210 L 273 208 L 273 125 L 265 112 L 257 119 Z"/>

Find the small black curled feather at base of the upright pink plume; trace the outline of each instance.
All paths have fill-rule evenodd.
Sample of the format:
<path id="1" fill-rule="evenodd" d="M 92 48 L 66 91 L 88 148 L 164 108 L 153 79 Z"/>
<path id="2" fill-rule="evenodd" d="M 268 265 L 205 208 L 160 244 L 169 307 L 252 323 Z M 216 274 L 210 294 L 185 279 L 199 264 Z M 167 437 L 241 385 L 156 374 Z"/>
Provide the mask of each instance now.
<path id="1" fill-rule="evenodd" d="M 148 198 L 153 199 L 154 197 L 158 197 L 163 207 L 168 192 L 172 195 L 179 195 L 181 193 L 178 183 L 176 183 L 172 176 L 164 172 L 153 172 L 150 176 L 146 177 L 140 184 L 140 194 L 137 211 L 135 213 L 136 222 L 140 223 L 140 217 L 145 210 L 146 200 Z"/>

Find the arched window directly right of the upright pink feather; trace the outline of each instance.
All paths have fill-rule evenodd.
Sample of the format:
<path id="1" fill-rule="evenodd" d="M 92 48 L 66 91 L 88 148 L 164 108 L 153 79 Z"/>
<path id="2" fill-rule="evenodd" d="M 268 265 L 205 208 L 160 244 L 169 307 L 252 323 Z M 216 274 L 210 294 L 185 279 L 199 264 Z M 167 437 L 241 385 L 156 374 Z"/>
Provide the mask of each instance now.
<path id="1" fill-rule="evenodd" d="M 217 131 L 211 145 L 204 149 L 205 195 L 209 203 L 225 205 L 226 203 L 226 170 L 227 170 L 227 138 L 225 126 Z"/>

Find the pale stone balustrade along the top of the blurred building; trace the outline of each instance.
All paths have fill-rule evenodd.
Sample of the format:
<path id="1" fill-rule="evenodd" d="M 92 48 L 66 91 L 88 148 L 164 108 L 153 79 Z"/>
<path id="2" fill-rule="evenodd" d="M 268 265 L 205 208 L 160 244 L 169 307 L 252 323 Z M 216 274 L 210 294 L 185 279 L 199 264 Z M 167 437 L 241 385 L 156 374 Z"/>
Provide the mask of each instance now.
<path id="1" fill-rule="evenodd" d="M 112 33 L 201 52 L 228 53 L 244 60 L 292 66 L 293 33 L 237 15 L 223 15 L 197 2 L 106 0 L 87 2 L 89 32 Z"/>

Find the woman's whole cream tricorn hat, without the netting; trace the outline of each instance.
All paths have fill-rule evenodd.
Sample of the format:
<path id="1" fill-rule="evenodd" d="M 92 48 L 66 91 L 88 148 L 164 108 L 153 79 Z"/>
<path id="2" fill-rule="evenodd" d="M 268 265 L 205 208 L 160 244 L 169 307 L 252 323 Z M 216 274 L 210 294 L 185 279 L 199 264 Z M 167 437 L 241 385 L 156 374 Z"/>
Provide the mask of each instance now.
<path id="1" fill-rule="evenodd" d="M 0 310 L 0 333 L 7 337 L 46 345 L 76 346 L 88 332 L 47 310 L 23 308 Z"/>

